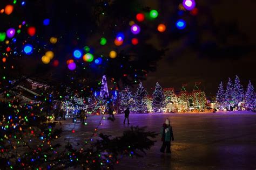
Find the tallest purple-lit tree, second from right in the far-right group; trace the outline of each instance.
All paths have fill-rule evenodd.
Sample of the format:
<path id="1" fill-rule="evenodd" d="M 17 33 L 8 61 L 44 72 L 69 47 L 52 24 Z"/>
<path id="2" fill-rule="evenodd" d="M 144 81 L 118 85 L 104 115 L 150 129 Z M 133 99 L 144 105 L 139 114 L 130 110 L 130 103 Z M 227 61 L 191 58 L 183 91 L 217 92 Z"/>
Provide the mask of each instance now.
<path id="1" fill-rule="evenodd" d="M 233 101 L 234 101 L 234 104 L 238 105 L 239 110 L 240 110 L 240 104 L 243 98 L 244 98 L 244 90 L 242 89 L 242 85 L 240 84 L 238 75 L 236 75 L 234 89 L 233 89 Z"/>

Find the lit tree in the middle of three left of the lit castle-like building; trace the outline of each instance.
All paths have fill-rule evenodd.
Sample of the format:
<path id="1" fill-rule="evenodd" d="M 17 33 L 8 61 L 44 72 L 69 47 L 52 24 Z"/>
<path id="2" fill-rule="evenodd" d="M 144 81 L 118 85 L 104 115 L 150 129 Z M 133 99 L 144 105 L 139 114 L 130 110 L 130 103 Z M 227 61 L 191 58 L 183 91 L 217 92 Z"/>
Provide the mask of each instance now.
<path id="1" fill-rule="evenodd" d="M 147 112 L 147 104 L 146 104 L 146 95 L 147 91 L 142 86 L 142 82 L 139 83 L 139 87 L 134 95 L 134 102 L 132 110 L 137 113 Z"/>

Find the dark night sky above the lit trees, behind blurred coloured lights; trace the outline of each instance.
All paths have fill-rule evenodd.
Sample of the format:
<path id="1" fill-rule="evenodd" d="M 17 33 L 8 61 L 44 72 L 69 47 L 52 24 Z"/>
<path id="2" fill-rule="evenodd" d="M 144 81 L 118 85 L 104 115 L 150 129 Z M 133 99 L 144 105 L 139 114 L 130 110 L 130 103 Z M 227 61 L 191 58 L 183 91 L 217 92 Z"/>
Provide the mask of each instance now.
<path id="1" fill-rule="evenodd" d="M 66 69 L 66 60 L 73 57 L 72 51 L 77 47 L 93 46 L 95 48 L 92 48 L 92 51 L 97 51 L 97 55 L 102 53 L 108 55 L 111 49 L 118 48 L 120 49 L 119 52 L 123 48 L 131 53 L 133 51 L 133 47 L 130 48 L 131 44 L 113 47 L 114 36 L 116 36 L 118 30 L 129 31 L 128 23 L 130 20 L 134 20 L 136 12 L 139 12 L 138 9 L 148 6 L 150 9 L 158 10 L 159 16 L 154 21 L 148 20 L 144 25 L 141 24 L 143 31 L 138 38 L 142 42 L 141 44 L 144 44 L 142 46 L 138 45 L 137 49 L 134 47 L 134 50 L 143 55 L 143 53 L 147 52 L 147 48 L 150 47 L 145 46 L 147 42 L 156 49 L 165 50 L 165 55 L 161 56 L 159 61 L 156 59 L 156 71 L 149 72 L 147 79 L 143 80 L 143 84 L 149 93 L 152 92 L 151 88 L 155 86 L 156 82 L 159 82 L 163 88 L 174 87 L 177 91 L 181 89 L 184 83 L 187 84 L 187 91 L 191 91 L 195 82 L 201 82 L 199 88 L 205 90 L 207 96 L 214 96 L 220 81 L 224 81 L 224 86 L 226 86 L 228 77 L 234 80 L 235 75 L 239 76 L 244 88 L 249 80 L 255 86 L 256 21 L 254 19 L 254 8 L 256 1 L 196 0 L 198 8 L 196 16 L 188 16 L 189 12 L 187 11 L 186 15 L 177 14 L 177 6 L 182 2 L 181 0 L 139 1 L 142 6 L 136 6 L 137 1 L 135 0 L 117 2 L 118 5 L 116 6 L 118 8 L 109 9 L 110 15 L 106 15 L 106 20 L 103 19 L 103 24 L 99 26 L 97 26 L 91 13 L 92 7 L 90 5 L 94 4 L 94 1 L 76 0 L 65 1 L 65 3 L 59 0 L 28 1 L 24 9 L 23 7 L 18 7 L 14 15 L 10 15 L 11 19 L 6 18 L 6 16 L 0 16 L 3 20 L 3 26 L 0 31 L 12 26 L 10 20 L 15 23 L 15 20 L 22 18 L 21 16 L 23 15 L 26 16 L 28 23 L 37 26 L 39 36 L 37 38 L 29 38 L 28 42 L 31 44 L 35 42 L 34 47 L 40 50 L 38 50 L 38 53 L 33 54 L 33 58 L 23 55 L 19 61 L 22 66 L 20 66 L 21 69 L 18 72 L 22 70 L 22 72 L 28 74 L 31 70 L 36 70 L 36 63 L 42 65 L 41 57 L 44 55 L 43 52 L 48 49 L 52 49 L 55 52 L 55 59 L 60 61 L 60 66 L 53 69 L 44 68 L 44 75 L 63 76 L 64 78 L 66 76 L 64 73 L 69 70 L 63 72 L 62 69 Z M 2 4 L 2 6 L 6 5 L 6 3 Z M 51 20 L 51 24 L 48 27 L 42 26 L 42 20 L 45 18 L 50 18 Z M 116 20 L 113 18 L 116 18 Z M 186 29 L 181 31 L 175 27 L 175 23 L 179 18 L 187 21 Z M 115 23 L 118 22 L 123 24 L 116 26 Z M 164 33 L 156 31 L 159 23 L 166 25 Z M 131 33 L 126 34 L 126 32 L 124 32 L 125 36 L 127 34 L 130 36 Z M 112 44 L 110 45 L 109 43 L 104 47 L 100 46 L 98 40 L 106 35 L 110 35 L 107 39 L 108 42 L 112 41 Z M 22 38 L 26 38 L 26 36 Z M 59 44 L 48 45 L 44 42 L 49 41 L 51 36 L 58 37 Z M 5 46 L 0 47 L 6 48 Z M 21 49 L 22 47 L 18 48 Z M 152 50 L 154 51 L 154 49 Z M 138 60 L 143 62 L 145 67 L 147 65 L 146 55 Z M 156 56 L 156 58 L 158 57 Z M 149 59 L 152 58 L 154 56 L 149 56 Z M 126 61 L 122 62 L 125 63 Z M 139 65 L 138 62 L 136 64 L 137 66 Z M 85 65 L 87 66 L 87 63 Z M 106 69 L 104 66 L 102 67 L 104 69 L 100 67 L 96 69 L 95 66 L 91 65 L 89 67 L 92 74 L 100 75 L 98 77 L 105 74 L 105 70 L 109 74 L 117 72 L 116 70 L 118 72 L 121 70 L 116 65 L 106 66 L 109 67 Z M 117 77 L 123 79 L 123 74 L 125 72 L 120 71 L 120 75 L 117 75 Z M 92 77 L 95 75 L 92 75 Z M 107 77 L 111 78 L 108 75 Z M 113 84 L 110 84 L 111 86 Z M 133 85 L 132 90 L 136 90 L 137 86 Z"/>

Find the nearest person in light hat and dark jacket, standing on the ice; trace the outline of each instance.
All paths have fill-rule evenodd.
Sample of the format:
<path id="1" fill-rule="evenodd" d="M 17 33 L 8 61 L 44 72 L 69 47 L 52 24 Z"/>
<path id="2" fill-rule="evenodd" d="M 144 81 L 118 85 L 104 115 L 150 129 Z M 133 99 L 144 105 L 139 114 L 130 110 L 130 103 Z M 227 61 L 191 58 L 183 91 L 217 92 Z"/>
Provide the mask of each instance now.
<path id="1" fill-rule="evenodd" d="M 163 127 L 161 128 L 161 141 L 163 145 L 160 148 L 160 152 L 164 153 L 166 148 L 166 153 L 171 153 L 171 140 L 174 140 L 172 126 L 170 125 L 170 120 L 166 118 Z"/>

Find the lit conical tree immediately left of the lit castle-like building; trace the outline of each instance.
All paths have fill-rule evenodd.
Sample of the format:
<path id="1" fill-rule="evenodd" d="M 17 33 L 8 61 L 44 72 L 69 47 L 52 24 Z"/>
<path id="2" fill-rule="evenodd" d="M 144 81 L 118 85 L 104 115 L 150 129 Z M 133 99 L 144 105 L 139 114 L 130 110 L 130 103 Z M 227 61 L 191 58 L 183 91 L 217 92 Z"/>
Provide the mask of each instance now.
<path id="1" fill-rule="evenodd" d="M 160 84 L 157 82 L 156 88 L 153 92 L 152 108 L 154 112 L 162 112 L 165 107 L 164 91 Z"/>

